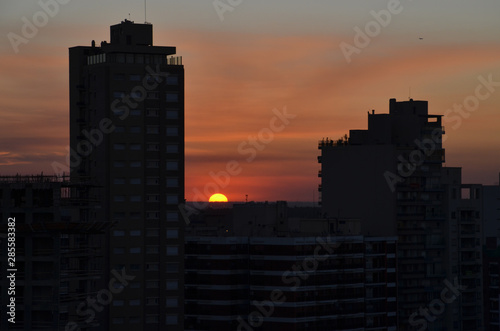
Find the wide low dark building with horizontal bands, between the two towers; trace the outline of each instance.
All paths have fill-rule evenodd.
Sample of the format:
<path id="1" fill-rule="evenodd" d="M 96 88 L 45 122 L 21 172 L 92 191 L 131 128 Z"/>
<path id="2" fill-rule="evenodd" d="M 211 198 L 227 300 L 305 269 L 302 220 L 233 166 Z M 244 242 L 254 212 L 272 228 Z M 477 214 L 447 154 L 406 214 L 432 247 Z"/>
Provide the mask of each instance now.
<path id="1" fill-rule="evenodd" d="M 185 329 L 396 330 L 396 238 L 290 211 L 239 204 L 191 224 Z"/>

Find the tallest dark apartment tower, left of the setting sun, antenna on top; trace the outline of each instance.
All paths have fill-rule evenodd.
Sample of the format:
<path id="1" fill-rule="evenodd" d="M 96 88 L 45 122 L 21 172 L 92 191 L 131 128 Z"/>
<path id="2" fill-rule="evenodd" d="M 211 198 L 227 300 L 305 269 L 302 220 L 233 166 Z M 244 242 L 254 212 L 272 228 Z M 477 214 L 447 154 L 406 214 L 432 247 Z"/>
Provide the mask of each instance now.
<path id="1" fill-rule="evenodd" d="M 93 183 L 95 216 L 113 223 L 104 276 L 129 277 L 97 313 L 105 330 L 183 330 L 182 58 L 153 46 L 151 24 L 110 32 L 69 49 L 71 178 Z"/>

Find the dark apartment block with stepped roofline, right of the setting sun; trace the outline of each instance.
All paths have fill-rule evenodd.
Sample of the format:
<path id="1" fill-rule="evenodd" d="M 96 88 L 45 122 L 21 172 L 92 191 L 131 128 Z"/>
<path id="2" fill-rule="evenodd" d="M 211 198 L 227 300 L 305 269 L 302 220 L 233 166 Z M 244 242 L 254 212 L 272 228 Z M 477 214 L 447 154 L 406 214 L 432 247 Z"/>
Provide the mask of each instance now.
<path id="1" fill-rule="evenodd" d="M 460 173 L 443 167 L 441 119 L 427 101 L 391 99 L 389 114 L 368 113 L 368 130 L 319 142 L 323 216 L 360 219 L 363 235 L 398 236 L 398 330 L 482 329 L 473 298 L 481 298 L 479 200 L 462 199 Z M 474 290 L 424 316 L 455 280 Z M 462 314 L 465 301 L 473 313 Z"/>

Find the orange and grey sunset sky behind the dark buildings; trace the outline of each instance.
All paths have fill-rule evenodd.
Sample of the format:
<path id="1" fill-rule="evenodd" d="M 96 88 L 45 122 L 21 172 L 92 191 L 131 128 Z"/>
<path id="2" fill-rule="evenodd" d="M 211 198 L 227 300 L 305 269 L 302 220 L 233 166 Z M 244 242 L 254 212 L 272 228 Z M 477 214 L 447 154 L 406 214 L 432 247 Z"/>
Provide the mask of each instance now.
<path id="1" fill-rule="evenodd" d="M 59 1 L 65 4 L 52 6 L 57 12 L 30 36 L 23 25 L 43 16 L 37 15 L 39 2 L 0 3 L 1 175 L 52 174 L 52 162 L 65 163 L 68 48 L 109 41 L 109 26 L 129 13 L 144 22 L 141 0 Z M 498 183 L 500 1 L 218 3 L 231 10 L 218 13 L 212 0 L 147 3 L 154 44 L 176 46 L 183 56 L 188 200 L 214 182 L 211 172 L 236 161 L 241 173 L 220 190 L 230 201 L 245 194 L 255 201 L 312 201 L 318 196 L 318 140 L 366 129 L 367 111 L 387 113 L 389 99 L 408 100 L 410 89 L 413 99 L 429 101 L 430 113 L 448 114 L 446 166 L 463 167 L 467 183 Z M 371 12 L 391 13 L 388 7 L 390 22 L 375 23 Z M 340 45 L 354 47 L 357 28 L 377 26 L 348 62 Z M 25 38 L 18 52 L 9 33 Z M 452 112 L 488 79 L 498 83 L 482 88 L 488 96 L 477 109 Z M 295 117 L 273 137 L 264 134 L 262 150 L 248 161 L 250 136 L 269 132 L 284 109 Z"/>

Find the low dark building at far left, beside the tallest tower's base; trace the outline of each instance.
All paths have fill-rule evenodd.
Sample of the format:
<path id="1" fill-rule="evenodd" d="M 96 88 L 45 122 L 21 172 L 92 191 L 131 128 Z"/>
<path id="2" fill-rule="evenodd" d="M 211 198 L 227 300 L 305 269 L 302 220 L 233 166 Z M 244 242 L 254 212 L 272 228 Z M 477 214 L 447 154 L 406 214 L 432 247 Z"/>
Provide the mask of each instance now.
<path id="1" fill-rule="evenodd" d="M 67 178 L 0 177 L 0 329 L 102 327 L 105 313 L 95 312 L 91 318 L 86 300 L 105 288 L 104 231 L 111 224 L 92 217 L 95 201 L 86 192 L 85 183 L 70 184 Z M 14 232 L 8 230 L 9 219 L 15 221 Z M 15 246 L 8 246 L 11 232 Z M 15 258 L 7 260 L 11 247 Z M 7 276 L 13 266 L 15 293 L 10 295 Z M 11 297 L 15 298 L 15 324 L 8 322 Z M 84 309 L 78 313 L 82 304 Z"/>

